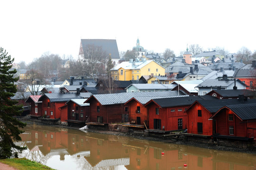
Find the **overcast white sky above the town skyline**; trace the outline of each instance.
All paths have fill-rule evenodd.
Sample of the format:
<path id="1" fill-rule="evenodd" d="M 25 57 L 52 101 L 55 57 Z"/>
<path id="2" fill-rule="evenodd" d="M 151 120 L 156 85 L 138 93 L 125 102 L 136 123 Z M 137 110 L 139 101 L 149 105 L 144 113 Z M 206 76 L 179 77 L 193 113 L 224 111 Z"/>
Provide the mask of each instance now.
<path id="1" fill-rule="evenodd" d="M 29 63 L 44 52 L 77 58 L 81 39 L 116 39 L 118 50 L 177 55 L 256 50 L 256 0 L 0 0 L 0 46 Z"/>

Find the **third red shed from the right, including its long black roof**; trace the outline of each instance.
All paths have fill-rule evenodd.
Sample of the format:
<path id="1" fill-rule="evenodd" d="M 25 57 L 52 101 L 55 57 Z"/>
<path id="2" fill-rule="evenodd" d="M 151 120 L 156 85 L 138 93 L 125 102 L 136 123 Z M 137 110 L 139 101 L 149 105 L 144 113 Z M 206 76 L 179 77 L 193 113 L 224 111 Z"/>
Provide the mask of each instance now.
<path id="1" fill-rule="evenodd" d="M 211 96 L 186 96 L 152 99 L 145 104 L 149 116 L 149 130 L 161 131 L 181 130 L 188 128 L 187 114 L 185 110 L 195 101 L 213 99 Z M 217 100 L 217 99 L 215 99 Z"/>

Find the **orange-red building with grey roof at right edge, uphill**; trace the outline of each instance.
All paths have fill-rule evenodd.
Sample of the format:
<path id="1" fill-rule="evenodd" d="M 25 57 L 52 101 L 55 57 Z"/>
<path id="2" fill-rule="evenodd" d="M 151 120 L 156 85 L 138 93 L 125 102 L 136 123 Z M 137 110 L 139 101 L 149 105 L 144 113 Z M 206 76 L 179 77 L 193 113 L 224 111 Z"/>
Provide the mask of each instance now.
<path id="1" fill-rule="evenodd" d="M 256 90 L 256 60 L 253 60 L 252 64 L 238 68 L 233 77 L 245 83 L 247 89 Z"/>

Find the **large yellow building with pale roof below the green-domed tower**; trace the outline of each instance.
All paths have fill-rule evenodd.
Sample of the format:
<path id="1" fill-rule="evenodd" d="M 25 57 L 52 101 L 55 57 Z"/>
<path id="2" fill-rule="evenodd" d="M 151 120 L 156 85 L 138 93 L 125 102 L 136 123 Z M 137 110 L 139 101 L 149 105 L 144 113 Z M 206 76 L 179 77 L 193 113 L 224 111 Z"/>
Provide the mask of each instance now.
<path id="1" fill-rule="evenodd" d="M 154 60 L 125 61 L 110 69 L 114 80 L 139 80 L 144 75 L 164 75 L 165 68 Z"/>

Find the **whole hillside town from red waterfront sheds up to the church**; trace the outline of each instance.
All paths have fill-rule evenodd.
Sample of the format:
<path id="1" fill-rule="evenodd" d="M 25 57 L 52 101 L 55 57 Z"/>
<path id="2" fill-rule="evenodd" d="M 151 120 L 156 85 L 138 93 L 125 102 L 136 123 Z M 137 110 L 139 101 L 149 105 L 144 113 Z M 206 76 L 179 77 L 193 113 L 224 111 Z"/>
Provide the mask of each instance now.
<path id="1" fill-rule="evenodd" d="M 11 99 L 34 122 L 255 147 L 256 58 L 190 47 L 153 53 L 137 39 L 121 55 L 115 40 L 81 39 L 76 61 L 14 64 Z"/>

